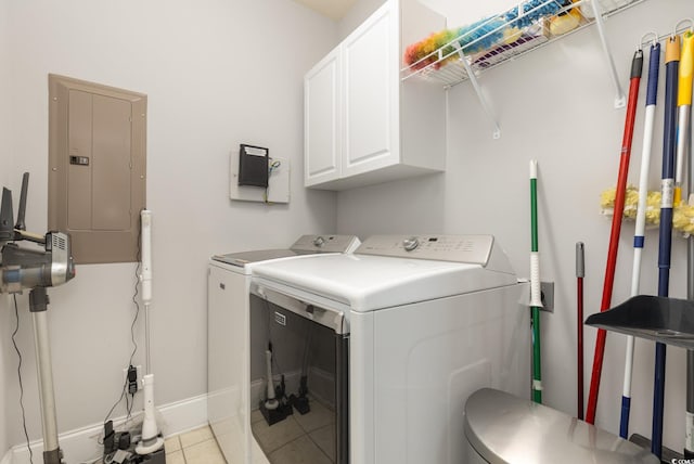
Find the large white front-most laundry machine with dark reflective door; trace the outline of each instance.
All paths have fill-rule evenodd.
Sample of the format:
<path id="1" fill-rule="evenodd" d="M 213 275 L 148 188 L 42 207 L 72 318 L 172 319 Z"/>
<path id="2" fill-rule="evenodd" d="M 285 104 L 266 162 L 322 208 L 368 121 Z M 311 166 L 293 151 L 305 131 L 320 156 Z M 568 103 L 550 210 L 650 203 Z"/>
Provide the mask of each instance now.
<path id="1" fill-rule="evenodd" d="M 464 463 L 467 397 L 529 397 L 528 284 L 491 235 L 372 236 L 254 266 L 250 293 L 252 383 L 271 346 L 273 385 L 306 373 L 312 404 L 254 414 L 271 463 Z"/>

